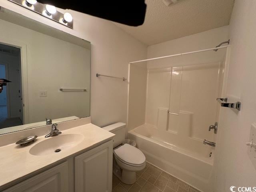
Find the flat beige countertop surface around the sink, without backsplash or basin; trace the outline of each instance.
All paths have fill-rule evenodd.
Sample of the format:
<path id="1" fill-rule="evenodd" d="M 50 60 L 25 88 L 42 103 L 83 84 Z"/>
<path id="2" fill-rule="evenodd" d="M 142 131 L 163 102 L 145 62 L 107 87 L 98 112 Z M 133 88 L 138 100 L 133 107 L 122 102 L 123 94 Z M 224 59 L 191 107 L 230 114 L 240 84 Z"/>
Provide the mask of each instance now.
<path id="1" fill-rule="evenodd" d="M 44 156 L 32 155 L 29 150 L 39 142 L 54 137 L 45 138 L 40 136 L 29 146 L 22 147 L 14 143 L 0 147 L 0 188 L 55 162 L 64 160 L 73 154 L 98 146 L 111 140 L 114 136 L 114 134 L 91 123 L 64 130 L 61 135 L 64 134 L 82 134 L 84 140 L 72 148 Z"/>

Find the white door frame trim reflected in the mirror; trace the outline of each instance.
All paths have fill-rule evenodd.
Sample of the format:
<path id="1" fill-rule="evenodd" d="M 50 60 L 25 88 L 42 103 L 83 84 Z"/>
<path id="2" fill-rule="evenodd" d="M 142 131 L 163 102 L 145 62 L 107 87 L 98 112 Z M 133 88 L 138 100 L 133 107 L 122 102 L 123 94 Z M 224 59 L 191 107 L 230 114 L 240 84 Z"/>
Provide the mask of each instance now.
<path id="1" fill-rule="evenodd" d="M 28 67 L 27 67 L 27 45 L 19 40 L 13 40 L 1 36 L 0 43 L 20 48 L 21 79 L 22 79 L 22 103 L 23 103 L 23 124 L 29 123 L 28 107 Z"/>

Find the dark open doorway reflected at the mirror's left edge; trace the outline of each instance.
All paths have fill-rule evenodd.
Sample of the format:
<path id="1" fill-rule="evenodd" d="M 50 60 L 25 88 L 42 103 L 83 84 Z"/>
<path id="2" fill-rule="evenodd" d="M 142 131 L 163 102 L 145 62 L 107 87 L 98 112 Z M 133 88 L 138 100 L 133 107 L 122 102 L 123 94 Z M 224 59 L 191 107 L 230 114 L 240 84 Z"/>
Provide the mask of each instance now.
<path id="1" fill-rule="evenodd" d="M 23 124 L 20 48 L 0 44 L 0 78 L 10 80 L 0 93 L 0 129 Z"/>

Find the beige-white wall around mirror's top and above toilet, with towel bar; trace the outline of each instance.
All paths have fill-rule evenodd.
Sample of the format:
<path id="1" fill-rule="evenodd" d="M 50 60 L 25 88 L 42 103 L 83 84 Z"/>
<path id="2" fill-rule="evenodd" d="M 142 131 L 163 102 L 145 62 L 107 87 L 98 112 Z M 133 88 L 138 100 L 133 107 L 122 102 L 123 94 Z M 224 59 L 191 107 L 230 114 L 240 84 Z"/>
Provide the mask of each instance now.
<path id="1" fill-rule="evenodd" d="M 112 22 L 86 14 L 69 11 L 74 17 L 72 30 L 6 0 L 0 0 L 0 6 L 90 41 L 92 123 L 104 126 L 118 121 L 126 122 L 127 82 L 96 78 L 96 73 L 127 77 L 128 62 L 146 58 L 144 44 Z"/>

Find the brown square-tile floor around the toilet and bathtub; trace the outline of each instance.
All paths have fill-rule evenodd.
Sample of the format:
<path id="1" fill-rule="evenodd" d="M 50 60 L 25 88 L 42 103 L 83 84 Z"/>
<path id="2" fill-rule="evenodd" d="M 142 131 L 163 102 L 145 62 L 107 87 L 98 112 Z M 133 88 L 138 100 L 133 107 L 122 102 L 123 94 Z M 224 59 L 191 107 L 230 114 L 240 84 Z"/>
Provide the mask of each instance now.
<path id="1" fill-rule="evenodd" d="M 132 185 L 122 183 L 113 175 L 112 192 L 199 192 L 148 162 L 146 167 L 136 174 L 137 181 Z"/>

